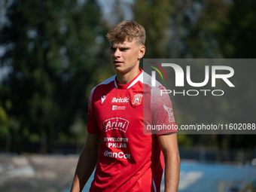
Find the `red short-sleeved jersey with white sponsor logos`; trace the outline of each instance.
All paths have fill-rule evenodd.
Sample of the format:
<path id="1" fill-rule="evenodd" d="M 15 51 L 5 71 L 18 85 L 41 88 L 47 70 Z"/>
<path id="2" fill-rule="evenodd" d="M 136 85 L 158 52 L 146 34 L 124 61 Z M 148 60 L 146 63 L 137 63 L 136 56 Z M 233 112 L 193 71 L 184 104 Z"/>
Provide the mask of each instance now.
<path id="1" fill-rule="evenodd" d="M 141 70 L 121 85 L 114 75 L 91 91 L 87 131 L 100 134 L 102 145 L 90 192 L 160 192 L 163 154 L 157 136 L 176 130 L 143 133 L 143 127 L 175 125 L 168 94 L 160 99 L 163 87 L 151 87 L 150 79 Z"/>

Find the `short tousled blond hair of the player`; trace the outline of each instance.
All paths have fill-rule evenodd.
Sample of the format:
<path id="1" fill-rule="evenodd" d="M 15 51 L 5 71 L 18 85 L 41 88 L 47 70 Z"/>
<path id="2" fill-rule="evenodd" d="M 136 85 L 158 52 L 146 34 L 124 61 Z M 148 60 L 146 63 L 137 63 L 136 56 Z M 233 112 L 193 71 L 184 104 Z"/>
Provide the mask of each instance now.
<path id="1" fill-rule="evenodd" d="M 108 41 L 136 41 L 145 44 L 146 32 L 143 26 L 132 20 L 125 20 L 114 26 L 106 35 Z"/>

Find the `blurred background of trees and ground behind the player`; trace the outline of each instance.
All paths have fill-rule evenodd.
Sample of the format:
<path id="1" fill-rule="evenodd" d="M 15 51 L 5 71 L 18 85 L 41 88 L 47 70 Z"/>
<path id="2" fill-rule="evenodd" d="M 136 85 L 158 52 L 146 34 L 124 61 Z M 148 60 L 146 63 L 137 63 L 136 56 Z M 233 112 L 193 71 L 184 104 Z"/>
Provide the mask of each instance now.
<path id="1" fill-rule="evenodd" d="M 105 35 L 122 20 L 145 27 L 148 59 L 256 54 L 253 0 L 0 0 L 0 191 L 69 189 L 90 90 L 114 75 Z M 255 71 L 234 77 L 235 97 L 194 105 L 224 123 L 255 123 Z M 172 103 L 177 123 L 202 115 Z M 178 135 L 178 146 L 179 191 L 255 191 L 254 135 Z"/>

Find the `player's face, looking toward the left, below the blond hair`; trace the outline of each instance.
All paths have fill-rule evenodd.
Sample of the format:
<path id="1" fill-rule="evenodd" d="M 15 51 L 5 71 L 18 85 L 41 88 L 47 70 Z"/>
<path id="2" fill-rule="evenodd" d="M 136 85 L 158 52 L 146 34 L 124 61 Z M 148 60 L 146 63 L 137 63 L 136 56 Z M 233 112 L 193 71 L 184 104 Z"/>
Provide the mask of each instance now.
<path id="1" fill-rule="evenodd" d="M 139 59 L 144 56 L 145 46 L 135 41 L 111 41 L 110 56 L 116 72 L 130 72 L 139 69 Z"/>

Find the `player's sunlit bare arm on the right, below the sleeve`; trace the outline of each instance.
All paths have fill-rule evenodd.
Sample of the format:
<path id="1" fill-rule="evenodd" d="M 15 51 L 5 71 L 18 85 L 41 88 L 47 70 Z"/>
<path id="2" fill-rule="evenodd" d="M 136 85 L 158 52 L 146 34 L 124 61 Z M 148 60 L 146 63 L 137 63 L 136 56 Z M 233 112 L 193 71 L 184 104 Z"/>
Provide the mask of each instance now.
<path id="1" fill-rule="evenodd" d="M 178 153 L 177 134 L 158 136 L 165 162 L 164 184 L 165 192 L 178 190 L 180 157 Z"/>

